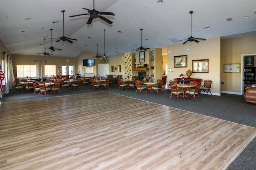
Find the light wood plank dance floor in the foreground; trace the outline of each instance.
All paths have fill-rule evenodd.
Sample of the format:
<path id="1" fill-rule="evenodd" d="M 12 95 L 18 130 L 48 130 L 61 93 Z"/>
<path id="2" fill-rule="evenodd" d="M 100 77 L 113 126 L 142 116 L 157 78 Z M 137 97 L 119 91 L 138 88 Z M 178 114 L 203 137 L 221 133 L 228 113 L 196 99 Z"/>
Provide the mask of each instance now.
<path id="1" fill-rule="evenodd" d="M 1 170 L 220 170 L 256 128 L 108 92 L 0 105 Z"/>

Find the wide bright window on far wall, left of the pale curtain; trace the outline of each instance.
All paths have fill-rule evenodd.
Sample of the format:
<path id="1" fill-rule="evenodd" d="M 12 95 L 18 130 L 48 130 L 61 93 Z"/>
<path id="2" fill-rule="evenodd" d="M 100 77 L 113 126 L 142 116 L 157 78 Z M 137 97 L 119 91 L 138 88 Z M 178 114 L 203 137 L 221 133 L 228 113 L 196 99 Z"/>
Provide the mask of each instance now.
<path id="1" fill-rule="evenodd" d="M 36 65 L 17 65 L 17 77 L 36 77 Z"/>

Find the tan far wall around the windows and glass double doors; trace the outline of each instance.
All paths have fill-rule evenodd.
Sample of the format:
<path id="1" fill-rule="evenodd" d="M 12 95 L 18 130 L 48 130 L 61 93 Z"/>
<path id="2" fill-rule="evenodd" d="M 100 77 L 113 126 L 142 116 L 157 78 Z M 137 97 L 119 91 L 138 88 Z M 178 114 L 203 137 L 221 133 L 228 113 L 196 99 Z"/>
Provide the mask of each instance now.
<path id="1" fill-rule="evenodd" d="M 67 62 L 67 59 L 69 62 Z M 45 65 L 56 65 L 56 73 L 60 75 L 62 65 L 74 65 L 77 70 L 77 58 L 75 57 L 54 57 L 54 56 L 37 56 L 37 55 L 12 55 L 13 69 L 17 70 L 17 64 L 35 65 L 36 61 L 46 61 Z M 58 70 L 60 72 L 58 72 Z M 75 71 L 76 72 L 76 71 Z M 15 73 L 15 71 L 14 71 Z M 61 73 L 64 75 L 64 73 Z M 16 77 L 16 75 L 14 75 Z M 25 77 L 24 77 L 25 78 Z"/>

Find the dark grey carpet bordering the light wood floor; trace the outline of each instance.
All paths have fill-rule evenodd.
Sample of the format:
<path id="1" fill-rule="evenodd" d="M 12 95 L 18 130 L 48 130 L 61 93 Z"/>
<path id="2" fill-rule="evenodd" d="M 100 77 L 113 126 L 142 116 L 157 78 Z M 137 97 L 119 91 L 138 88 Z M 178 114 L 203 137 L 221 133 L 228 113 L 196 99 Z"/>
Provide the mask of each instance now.
<path id="1" fill-rule="evenodd" d="M 181 98 L 178 99 L 178 102 L 175 98 L 169 100 L 169 89 L 162 89 L 164 95 L 159 94 L 146 94 L 146 93 L 137 93 L 135 90 L 118 90 L 118 85 L 110 87 L 110 89 L 102 89 L 102 90 L 92 90 L 89 86 L 82 86 L 82 90 L 80 89 L 72 89 L 61 91 L 61 95 L 73 95 L 80 93 L 92 93 L 92 92 L 101 92 L 108 91 L 111 93 L 116 93 L 128 97 L 133 97 L 136 99 L 141 99 L 153 103 L 158 103 L 161 105 L 166 105 L 170 107 L 174 107 L 177 109 L 182 109 L 186 111 L 191 111 L 194 113 L 199 113 L 202 115 L 207 115 L 211 117 L 216 117 L 219 119 L 223 119 L 226 121 L 231 121 L 235 123 L 240 123 L 243 125 L 256 127 L 256 105 L 252 103 L 244 104 L 244 98 L 242 95 L 230 95 L 230 94 L 222 94 L 221 96 L 213 96 L 213 95 L 200 95 L 201 101 L 196 99 L 186 99 L 185 101 Z M 45 96 L 39 96 L 33 93 L 21 93 L 16 91 L 13 93 L 10 91 L 9 94 L 5 94 L 3 96 L 2 103 L 8 104 L 8 101 L 16 101 L 16 100 L 25 100 L 25 99 L 38 99 L 45 98 Z M 55 96 L 60 96 L 56 94 Z M 53 97 L 51 95 L 47 96 Z M 46 99 L 47 99 L 46 98 Z M 230 164 L 227 168 L 228 170 L 252 170 L 256 169 L 256 139 L 252 140 L 252 142 L 243 150 L 243 152 Z"/>

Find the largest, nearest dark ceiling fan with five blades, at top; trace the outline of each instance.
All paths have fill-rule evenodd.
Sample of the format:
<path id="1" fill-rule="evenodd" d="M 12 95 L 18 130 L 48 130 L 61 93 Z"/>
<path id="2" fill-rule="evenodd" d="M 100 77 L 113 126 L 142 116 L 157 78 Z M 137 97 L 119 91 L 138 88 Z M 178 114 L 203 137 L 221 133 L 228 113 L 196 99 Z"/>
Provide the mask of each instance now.
<path id="1" fill-rule="evenodd" d="M 92 24 L 92 20 L 95 19 L 95 18 L 100 18 L 103 21 L 107 22 L 108 24 L 113 23 L 112 21 L 108 20 L 107 18 L 105 18 L 104 16 L 101 16 L 101 15 L 115 15 L 115 14 L 112 13 L 112 12 L 98 12 L 97 10 L 94 9 L 94 0 L 93 0 L 93 10 L 89 10 L 87 8 L 82 8 L 82 9 L 87 10 L 88 13 L 90 14 L 90 18 L 88 19 L 86 24 Z M 73 15 L 73 16 L 70 16 L 70 17 L 81 16 L 81 15 L 89 15 L 89 14 L 78 14 L 78 15 Z"/>

